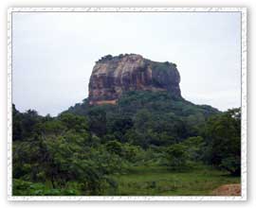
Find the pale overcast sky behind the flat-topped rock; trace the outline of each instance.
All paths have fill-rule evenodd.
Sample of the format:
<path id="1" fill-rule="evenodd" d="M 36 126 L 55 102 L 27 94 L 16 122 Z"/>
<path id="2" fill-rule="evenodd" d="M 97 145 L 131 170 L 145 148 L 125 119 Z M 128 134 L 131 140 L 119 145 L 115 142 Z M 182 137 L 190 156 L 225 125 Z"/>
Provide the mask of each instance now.
<path id="1" fill-rule="evenodd" d="M 176 63 L 195 104 L 241 106 L 239 12 L 14 12 L 12 102 L 62 113 L 88 96 L 95 61 L 126 53 Z"/>

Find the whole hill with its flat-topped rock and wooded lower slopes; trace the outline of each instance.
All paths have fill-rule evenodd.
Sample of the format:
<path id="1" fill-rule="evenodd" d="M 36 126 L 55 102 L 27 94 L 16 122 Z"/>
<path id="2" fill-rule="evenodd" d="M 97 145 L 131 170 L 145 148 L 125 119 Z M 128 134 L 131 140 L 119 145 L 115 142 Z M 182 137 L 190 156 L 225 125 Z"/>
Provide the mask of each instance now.
<path id="1" fill-rule="evenodd" d="M 138 117 L 144 119 L 145 129 L 151 127 L 152 135 L 143 132 L 143 136 L 137 135 L 134 144 L 148 147 L 173 143 L 172 138 L 181 141 L 196 135 L 210 115 L 220 112 L 184 99 L 179 81 L 174 63 L 150 61 L 135 54 L 108 55 L 93 68 L 89 97 L 65 113 L 86 115 L 96 135 L 114 134 L 122 142 L 129 140 L 128 133 L 136 129 Z M 101 121 L 95 117 L 101 117 Z M 118 130 L 112 128 L 116 123 L 120 124 Z M 129 127 L 121 126 L 124 123 Z M 161 138 L 159 134 L 163 132 L 168 136 Z"/>

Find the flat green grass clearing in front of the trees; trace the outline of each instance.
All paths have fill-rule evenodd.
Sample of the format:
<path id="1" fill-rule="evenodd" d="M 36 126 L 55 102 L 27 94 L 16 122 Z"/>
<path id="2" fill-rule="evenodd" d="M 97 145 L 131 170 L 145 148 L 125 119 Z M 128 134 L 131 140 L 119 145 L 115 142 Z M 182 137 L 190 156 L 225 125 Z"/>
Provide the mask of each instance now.
<path id="1" fill-rule="evenodd" d="M 210 196 L 220 185 L 240 183 L 240 177 L 231 177 L 206 165 L 187 172 L 174 172 L 162 166 L 137 166 L 115 178 L 119 196 Z"/>

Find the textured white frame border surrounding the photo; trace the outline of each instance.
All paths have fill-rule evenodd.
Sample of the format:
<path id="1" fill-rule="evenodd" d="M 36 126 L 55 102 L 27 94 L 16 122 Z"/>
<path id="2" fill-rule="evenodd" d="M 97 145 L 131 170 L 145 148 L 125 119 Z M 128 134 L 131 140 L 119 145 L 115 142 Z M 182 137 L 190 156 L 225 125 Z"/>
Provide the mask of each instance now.
<path id="1" fill-rule="evenodd" d="M 13 197 L 12 196 L 12 110 L 11 32 L 12 12 L 241 12 L 242 84 L 242 193 L 239 197 Z M 9 200 L 247 200 L 247 9 L 246 8 L 9 8 L 8 9 L 8 199 Z"/>

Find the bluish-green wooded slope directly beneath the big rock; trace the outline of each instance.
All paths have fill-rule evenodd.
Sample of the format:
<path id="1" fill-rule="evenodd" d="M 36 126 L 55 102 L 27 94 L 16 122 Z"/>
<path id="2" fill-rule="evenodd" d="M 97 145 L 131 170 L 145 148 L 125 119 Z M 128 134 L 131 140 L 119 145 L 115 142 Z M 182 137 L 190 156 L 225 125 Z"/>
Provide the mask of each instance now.
<path id="1" fill-rule="evenodd" d="M 115 139 L 122 142 L 129 140 L 126 138 L 129 132 L 142 126 L 147 130 L 150 127 L 150 136 L 143 132 L 143 135 L 134 135 L 137 137 L 133 139 L 134 144 L 147 147 L 194 136 L 210 115 L 220 112 L 207 105 L 194 105 L 182 97 L 174 99 L 167 92 L 131 91 L 121 95 L 116 105 L 91 106 L 88 99 L 84 99 L 82 104 L 76 104 L 65 113 L 87 116 L 96 135 L 114 134 Z M 143 119 L 142 126 L 136 126 L 139 119 Z M 163 133 L 166 136 L 162 138 L 159 134 Z"/>

